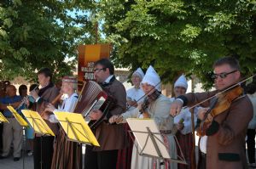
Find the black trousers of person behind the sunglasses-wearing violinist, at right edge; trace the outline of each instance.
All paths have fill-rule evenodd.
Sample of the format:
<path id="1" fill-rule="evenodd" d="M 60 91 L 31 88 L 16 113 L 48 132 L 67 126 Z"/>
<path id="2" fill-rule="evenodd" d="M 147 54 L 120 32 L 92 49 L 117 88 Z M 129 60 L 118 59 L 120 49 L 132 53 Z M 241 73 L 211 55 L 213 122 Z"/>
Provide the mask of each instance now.
<path id="1" fill-rule="evenodd" d="M 247 129 L 247 155 L 249 163 L 255 163 L 255 129 Z"/>

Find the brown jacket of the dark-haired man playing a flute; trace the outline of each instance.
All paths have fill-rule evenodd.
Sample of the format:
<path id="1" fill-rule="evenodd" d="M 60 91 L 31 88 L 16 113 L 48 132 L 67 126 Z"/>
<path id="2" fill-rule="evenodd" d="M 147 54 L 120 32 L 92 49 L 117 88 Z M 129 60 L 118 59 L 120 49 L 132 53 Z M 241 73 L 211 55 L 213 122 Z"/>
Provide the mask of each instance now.
<path id="1" fill-rule="evenodd" d="M 40 101 L 37 103 L 37 111 L 39 114 L 44 112 L 44 109 L 48 103 L 53 101 L 56 96 L 59 94 L 59 90 L 56 87 L 49 87 L 48 89 L 45 90 L 45 92 L 42 94 L 40 97 Z M 47 125 L 50 127 L 50 129 L 57 134 L 58 133 L 58 128 L 57 128 L 57 123 L 51 123 L 49 121 L 44 120 Z M 39 136 L 39 135 L 38 135 Z"/>

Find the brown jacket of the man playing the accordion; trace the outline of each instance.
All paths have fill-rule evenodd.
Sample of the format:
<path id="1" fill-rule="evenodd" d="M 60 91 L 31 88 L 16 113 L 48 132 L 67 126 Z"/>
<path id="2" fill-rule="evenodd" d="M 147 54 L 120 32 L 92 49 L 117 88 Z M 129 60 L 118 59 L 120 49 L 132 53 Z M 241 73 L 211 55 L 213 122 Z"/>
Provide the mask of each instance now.
<path id="1" fill-rule="evenodd" d="M 117 80 L 105 87 L 108 92 L 116 99 L 116 104 L 109 111 L 111 115 L 121 115 L 126 108 L 126 92 L 123 84 Z M 110 116 L 111 116 L 110 115 Z M 96 138 L 100 147 L 95 147 L 96 151 L 124 149 L 125 148 L 125 131 L 123 124 L 110 125 L 106 122 L 96 128 Z"/>

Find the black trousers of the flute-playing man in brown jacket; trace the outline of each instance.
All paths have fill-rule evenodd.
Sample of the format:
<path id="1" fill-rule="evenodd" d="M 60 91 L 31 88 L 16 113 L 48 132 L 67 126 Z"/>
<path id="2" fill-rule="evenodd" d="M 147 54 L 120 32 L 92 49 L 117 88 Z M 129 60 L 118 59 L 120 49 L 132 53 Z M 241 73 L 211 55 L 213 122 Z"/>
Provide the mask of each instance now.
<path id="1" fill-rule="evenodd" d="M 53 136 L 34 138 L 34 169 L 50 169 L 54 140 Z"/>

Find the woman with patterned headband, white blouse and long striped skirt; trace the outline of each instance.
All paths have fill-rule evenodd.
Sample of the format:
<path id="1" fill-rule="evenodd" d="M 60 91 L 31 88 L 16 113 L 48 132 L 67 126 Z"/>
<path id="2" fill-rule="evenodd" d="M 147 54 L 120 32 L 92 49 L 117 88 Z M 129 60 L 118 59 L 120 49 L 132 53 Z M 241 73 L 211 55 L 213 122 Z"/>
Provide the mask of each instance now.
<path id="1" fill-rule="evenodd" d="M 49 112 L 66 111 L 73 112 L 75 105 L 79 99 L 76 93 L 78 86 L 77 78 L 74 76 L 64 76 L 62 78 L 61 93 L 67 94 L 67 99 L 64 99 L 61 108 L 56 109 L 53 104 L 48 104 L 46 110 Z M 59 122 L 55 115 L 49 115 L 50 122 Z M 67 140 L 66 133 L 61 129 L 55 141 L 52 169 L 73 169 L 82 168 L 82 147 L 75 142 Z"/>

